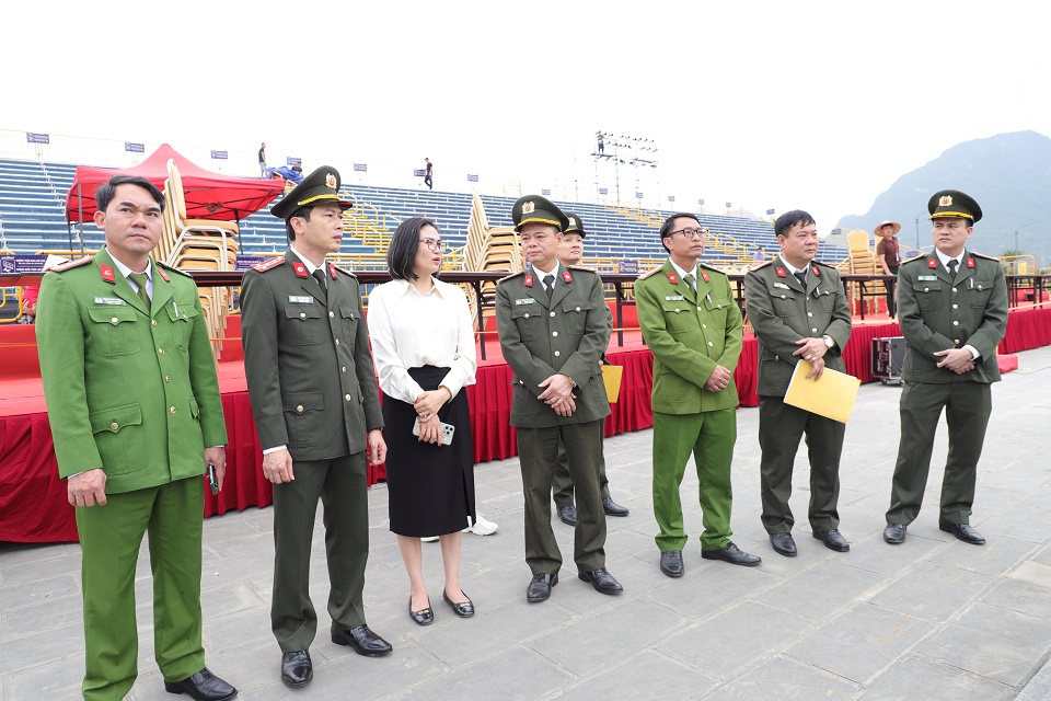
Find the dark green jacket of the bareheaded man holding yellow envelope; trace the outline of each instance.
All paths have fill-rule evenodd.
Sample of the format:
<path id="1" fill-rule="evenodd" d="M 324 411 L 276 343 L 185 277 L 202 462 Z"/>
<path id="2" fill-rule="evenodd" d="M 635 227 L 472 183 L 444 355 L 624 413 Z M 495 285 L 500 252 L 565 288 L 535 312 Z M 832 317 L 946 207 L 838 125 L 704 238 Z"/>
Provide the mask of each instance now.
<path id="1" fill-rule="evenodd" d="M 759 338 L 759 379 L 755 393 L 784 397 L 800 356 L 799 338 L 831 336 L 835 345 L 824 355 L 829 369 L 846 371 L 843 348 L 851 338 L 851 308 L 835 268 L 812 261 L 804 289 L 781 256 L 744 276 L 744 309 Z"/>

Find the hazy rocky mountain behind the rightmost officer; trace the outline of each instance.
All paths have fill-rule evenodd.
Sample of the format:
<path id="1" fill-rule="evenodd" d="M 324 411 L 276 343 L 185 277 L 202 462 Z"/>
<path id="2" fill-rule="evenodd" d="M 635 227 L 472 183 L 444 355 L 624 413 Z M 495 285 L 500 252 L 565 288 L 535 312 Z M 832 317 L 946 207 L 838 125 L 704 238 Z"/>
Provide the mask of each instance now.
<path id="1" fill-rule="evenodd" d="M 843 217 L 838 226 L 844 233 L 871 231 L 876 223 L 892 219 L 901 222 L 898 238 L 914 246 L 919 216 L 920 244 L 929 249 L 926 203 L 943 187 L 963 191 L 982 206 L 982 220 L 974 228 L 975 251 L 1001 255 L 1017 248 L 1041 265 L 1051 261 L 1051 139 L 1036 131 L 958 143 L 899 177 L 867 212 Z"/>

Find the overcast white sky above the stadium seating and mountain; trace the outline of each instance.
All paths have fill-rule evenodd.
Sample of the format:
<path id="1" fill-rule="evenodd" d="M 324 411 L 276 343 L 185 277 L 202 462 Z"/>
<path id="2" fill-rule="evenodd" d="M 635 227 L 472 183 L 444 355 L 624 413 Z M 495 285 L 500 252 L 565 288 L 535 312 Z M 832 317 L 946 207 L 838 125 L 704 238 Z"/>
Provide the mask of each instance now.
<path id="1" fill-rule="evenodd" d="M 589 200 L 603 130 L 656 142 L 648 206 L 804 208 L 824 231 L 960 141 L 1051 135 L 1038 3 L 714 4 L 5 3 L 0 129 L 168 141 L 205 166 L 226 149 L 245 175 L 265 140 L 272 164 L 399 186 L 428 156 L 439 189 L 475 173 Z M 635 169 L 619 177 L 634 200 Z"/>

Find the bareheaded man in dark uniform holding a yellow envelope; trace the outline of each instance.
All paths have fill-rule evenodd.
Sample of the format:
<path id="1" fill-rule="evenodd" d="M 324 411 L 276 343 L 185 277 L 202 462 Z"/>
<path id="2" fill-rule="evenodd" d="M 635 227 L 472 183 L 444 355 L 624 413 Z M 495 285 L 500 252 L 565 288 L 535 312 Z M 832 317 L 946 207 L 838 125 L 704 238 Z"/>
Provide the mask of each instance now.
<path id="1" fill-rule="evenodd" d="M 802 210 L 774 222 L 781 253 L 744 276 L 749 320 L 759 338 L 759 445 L 763 527 L 774 551 L 796 555 L 795 518 L 788 508 L 792 468 L 799 439 L 807 436 L 810 458 L 810 505 L 813 537 L 838 552 L 851 549 L 839 531 L 840 455 L 845 425 L 785 404 L 788 382 L 799 358 L 813 366 L 807 378 L 821 379 L 824 368 L 844 372 L 843 348 L 851 337 L 851 309 L 835 269 L 815 261 L 818 229 Z"/>

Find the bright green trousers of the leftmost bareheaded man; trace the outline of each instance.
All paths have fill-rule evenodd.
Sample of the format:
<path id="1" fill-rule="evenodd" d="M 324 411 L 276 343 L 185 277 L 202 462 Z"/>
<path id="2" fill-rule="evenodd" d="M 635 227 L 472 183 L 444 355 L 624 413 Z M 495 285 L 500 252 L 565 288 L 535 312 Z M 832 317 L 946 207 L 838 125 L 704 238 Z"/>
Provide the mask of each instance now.
<path id="1" fill-rule="evenodd" d="M 107 494 L 105 506 L 77 508 L 83 553 L 83 693 L 120 701 L 138 675 L 135 566 L 149 533 L 153 571 L 153 657 L 168 681 L 205 666 L 200 643 L 200 537 L 205 510 L 200 478 Z"/>

